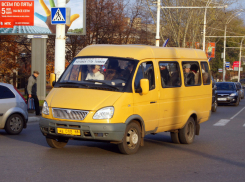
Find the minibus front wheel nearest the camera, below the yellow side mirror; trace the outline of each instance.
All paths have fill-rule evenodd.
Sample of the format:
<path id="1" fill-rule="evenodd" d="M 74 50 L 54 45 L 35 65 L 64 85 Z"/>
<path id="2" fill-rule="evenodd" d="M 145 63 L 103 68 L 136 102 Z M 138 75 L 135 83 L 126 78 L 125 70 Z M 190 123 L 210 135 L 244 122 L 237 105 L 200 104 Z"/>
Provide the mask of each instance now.
<path id="1" fill-rule="evenodd" d="M 134 154 L 138 151 L 141 142 L 141 127 L 138 122 L 128 124 L 123 137 L 123 142 L 118 144 L 118 149 L 123 154 Z"/>

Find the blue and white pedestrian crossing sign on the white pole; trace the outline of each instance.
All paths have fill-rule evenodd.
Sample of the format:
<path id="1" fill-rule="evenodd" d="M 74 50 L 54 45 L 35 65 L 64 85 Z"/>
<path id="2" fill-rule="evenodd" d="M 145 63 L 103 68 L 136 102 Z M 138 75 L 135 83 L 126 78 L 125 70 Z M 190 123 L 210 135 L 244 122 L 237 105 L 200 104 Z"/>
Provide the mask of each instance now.
<path id="1" fill-rule="evenodd" d="M 51 8 L 51 24 L 66 24 L 66 8 Z"/>

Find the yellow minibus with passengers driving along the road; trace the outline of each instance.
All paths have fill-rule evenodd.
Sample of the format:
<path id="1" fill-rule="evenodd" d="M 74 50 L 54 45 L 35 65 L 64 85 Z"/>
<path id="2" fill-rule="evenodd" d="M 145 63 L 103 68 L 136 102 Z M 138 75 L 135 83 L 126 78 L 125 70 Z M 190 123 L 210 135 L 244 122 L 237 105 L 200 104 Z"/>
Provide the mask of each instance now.
<path id="1" fill-rule="evenodd" d="M 210 78 L 201 50 L 91 45 L 57 82 L 51 76 L 40 129 L 53 148 L 70 139 L 107 141 L 133 154 L 159 132 L 190 144 L 211 114 Z"/>

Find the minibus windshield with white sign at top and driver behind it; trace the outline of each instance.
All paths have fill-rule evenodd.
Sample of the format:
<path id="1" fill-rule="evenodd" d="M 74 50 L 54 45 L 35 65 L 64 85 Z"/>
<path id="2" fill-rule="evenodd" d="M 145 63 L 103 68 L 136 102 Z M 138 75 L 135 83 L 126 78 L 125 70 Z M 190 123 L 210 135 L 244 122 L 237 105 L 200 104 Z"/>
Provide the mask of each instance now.
<path id="1" fill-rule="evenodd" d="M 66 69 L 59 87 L 124 91 L 138 61 L 122 58 L 79 57 Z"/>

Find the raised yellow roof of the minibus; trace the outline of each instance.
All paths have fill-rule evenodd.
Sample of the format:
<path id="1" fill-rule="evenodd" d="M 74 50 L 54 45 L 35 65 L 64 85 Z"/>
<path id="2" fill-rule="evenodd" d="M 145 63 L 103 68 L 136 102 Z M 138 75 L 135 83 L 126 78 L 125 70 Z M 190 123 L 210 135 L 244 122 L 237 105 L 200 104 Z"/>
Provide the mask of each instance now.
<path id="1" fill-rule="evenodd" d="M 207 60 L 204 51 L 191 48 L 176 47 L 155 47 L 147 45 L 111 45 L 97 44 L 90 45 L 82 49 L 78 56 L 108 56 L 133 58 L 137 60 L 143 59 L 202 59 Z"/>

